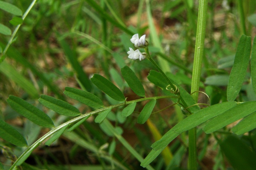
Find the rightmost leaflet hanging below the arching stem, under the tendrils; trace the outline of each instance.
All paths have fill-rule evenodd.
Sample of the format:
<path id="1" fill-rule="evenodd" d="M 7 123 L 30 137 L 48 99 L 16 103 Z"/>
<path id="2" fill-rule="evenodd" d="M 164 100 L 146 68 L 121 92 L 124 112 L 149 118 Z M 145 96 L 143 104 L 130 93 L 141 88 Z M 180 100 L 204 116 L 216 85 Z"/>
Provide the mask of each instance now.
<path id="1" fill-rule="evenodd" d="M 138 120 L 137 122 L 140 123 L 140 124 L 144 124 L 149 116 L 151 115 L 154 107 L 156 105 L 156 100 L 153 99 L 153 100 L 150 100 L 145 106 L 144 108 L 142 109 L 142 111 L 140 112 L 140 115 L 138 117 Z"/>

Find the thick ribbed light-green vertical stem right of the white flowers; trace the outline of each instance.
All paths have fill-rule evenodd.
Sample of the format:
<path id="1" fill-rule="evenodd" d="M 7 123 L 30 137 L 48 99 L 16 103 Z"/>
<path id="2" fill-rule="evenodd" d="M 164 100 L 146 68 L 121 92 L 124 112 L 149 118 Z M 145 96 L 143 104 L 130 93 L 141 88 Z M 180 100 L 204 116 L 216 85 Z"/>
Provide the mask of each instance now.
<path id="1" fill-rule="evenodd" d="M 205 27 L 206 27 L 206 14 L 207 14 L 207 3 L 208 0 L 199 0 L 198 9 L 198 21 L 196 31 L 196 46 L 195 56 L 192 73 L 191 93 L 199 90 L 201 68 L 204 53 L 204 38 L 205 38 Z M 197 101 L 198 93 L 193 93 L 192 98 Z M 196 170 L 196 127 L 188 131 L 188 142 L 189 142 L 189 169 Z"/>

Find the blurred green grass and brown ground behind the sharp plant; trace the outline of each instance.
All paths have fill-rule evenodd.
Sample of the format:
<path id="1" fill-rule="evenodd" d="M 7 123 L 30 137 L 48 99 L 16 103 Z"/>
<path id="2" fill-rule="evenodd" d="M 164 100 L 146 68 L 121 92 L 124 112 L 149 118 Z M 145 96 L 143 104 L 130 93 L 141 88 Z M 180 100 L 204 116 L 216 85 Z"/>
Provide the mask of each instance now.
<path id="1" fill-rule="evenodd" d="M 6 2 L 16 5 L 23 12 L 31 3 L 27 0 L 7 0 Z M 6 53 L 6 59 L 0 65 L 1 119 L 28 137 L 31 144 L 48 130 L 37 127 L 15 113 L 6 102 L 10 94 L 19 96 L 44 110 L 54 120 L 55 125 L 69 118 L 42 107 L 37 101 L 40 94 L 66 100 L 79 108 L 81 113 L 88 113 L 92 108 L 65 97 L 63 91 L 66 86 L 92 92 L 104 101 L 105 106 L 116 104 L 115 100 L 103 95 L 92 85 L 89 78 L 93 73 L 99 73 L 114 82 L 123 90 L 128 100 L 138 99 L 139 96 L 136 96 L 121 78 L 120 68 L 125 64 L 134 70 L 143 82 L 147 97 L 161 95 L 162 90 L 153 86 L 147 79 L 149 70 L 155 69 L 154 66 L 147 60 L 131 61 L 127 57 L 127 51 L 132 47 L 130 37 L 134 33 L 146 34 L 152 56 L 158 60 L 160 66 L 164 67 L 163 70 L 171 72 L 175 81 L 182 84 L 189 92 L 195 47 L 197 1 L 153 0 L 148 2 L 143 0 L 38 0 L 23 21 Z M 252 37 L 256 34 L 255 6 L 255 0 L 208 1 L 201 90 L 206 92 L 211 100 L 209 103 L 205 96 L 200 94 L 199 103 L 208 102 L 213 105 L 220 101 L 227 101 L 226 86 L 239 38 L 242 34 Z M 152 20 L 147 13 L 147 7 L 150 8 Z M 9 23 L 12 17 L 13 15 L 0 10 L 0 23 L 13 31 L 15 26 Z M 156 41 L 154 34 L 158 35 L 161 47 L 154 43 Z M 5 48 L 9 38 L 10 36 L 0 34 L 2 49 Z M 256 100 L 249 71 L 244 81 L 237 101 Z M 159 100 L 155 109 L 160 110 L 168 106 L 168 102 L 170 101 Z M 143 105 L 145 103 L 141 103 L 136 111 L 141 111 Z M 168 108 L 160 114 L 152 115 L 155 127 L 153 129 L 164 134 L 182 120 L 184 115 L 178 112 L 180 112 L 179 108 Z M 151 135 L 154 130 L 148 128 L 152 128 L 153 125 L 149 125 L 150 122 L 148 125 L 138 125 L 134 119 L 134 116 L 138 116 L 136 114 L 126 119 L 120 114 L 121 110 L 116 109 L 108 115 L 108 119 L 119 127 L 122 136 L 137 152 L 143 157 L 146 156 L 152 141 L 156 140 Z M 80 168 L 91 169 L 94 165 L 95 169 L 108 169 L 114 167 L 113 160 L 117 162 L 115 166 L 121 164 L 130 169 L 142 168 L 140 162 L 112 136 L 104 131 L 103 125 L 99 126 L 89 118 L 80 128 L 74 130 L 72 135 L 64 133 L 63 137 L 51 147 L 39 147 L 26 161 L 33 167 L 25 163 L 23 168 L 79 169 L 75 165 L 80 165 Z M 256 136 L 255 131 L 252 136 Z M 176 155 L 174 157 L 176 163 L 169 167 L 187 168 L 186 144 L 182 144 L 185 139 L 184 133 L 170 145 L 172 153 Z M 112 148 L 104 145 L 107 143 Z M 0 159 L 7 166 L 15 159 L 14 155 L 19 156 L 23 151 L 3 140 L 0 140 L 0 144 L 3 148 Z M 115 147 L 116 150 L 113 150 Z M 201 169 L 226 169 L 229 166 L 214 137 L 205 135 L 202 129 L 198 130 L 198 148 Z M 104 156 L 113 160 L 103 160 Z M 152 165 L 155 169 L 168 167 L 164 165 L 163 157 L 158 157 Z"/>

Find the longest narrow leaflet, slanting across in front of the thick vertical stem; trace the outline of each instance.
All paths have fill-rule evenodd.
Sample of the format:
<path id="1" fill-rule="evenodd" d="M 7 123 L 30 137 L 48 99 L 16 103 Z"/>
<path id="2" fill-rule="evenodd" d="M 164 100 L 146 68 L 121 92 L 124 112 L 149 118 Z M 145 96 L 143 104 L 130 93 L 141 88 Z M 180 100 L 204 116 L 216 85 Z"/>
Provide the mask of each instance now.
<path id="1" fill-rule="evenodd" d="M 173 139 L 175 139 L 182 132 L 192 129 L 205 121 L 224 113 L 226 110 L 235 107 L 236 102 L 224 102 L 216 104 L 210 107 L 206 107 L 188 117 L 183 119 L 181 122 L 176 124 L 172 129 L 170 129 L 164 136 L 152 144 L 154 150 L 158 150 L 162 147 L 168 145 Z"/>

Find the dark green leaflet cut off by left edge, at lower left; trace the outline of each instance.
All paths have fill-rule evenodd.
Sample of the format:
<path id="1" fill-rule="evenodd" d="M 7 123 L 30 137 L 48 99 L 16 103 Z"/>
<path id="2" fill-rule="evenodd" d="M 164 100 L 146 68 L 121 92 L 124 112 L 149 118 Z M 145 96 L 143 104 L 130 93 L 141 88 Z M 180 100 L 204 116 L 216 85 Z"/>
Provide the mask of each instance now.
<path id="1" fill-rule="evenodd" d="M 27 146 L 26 139 L 11 125 L 0 119 L 0 137 L 17 146 Z"/>

